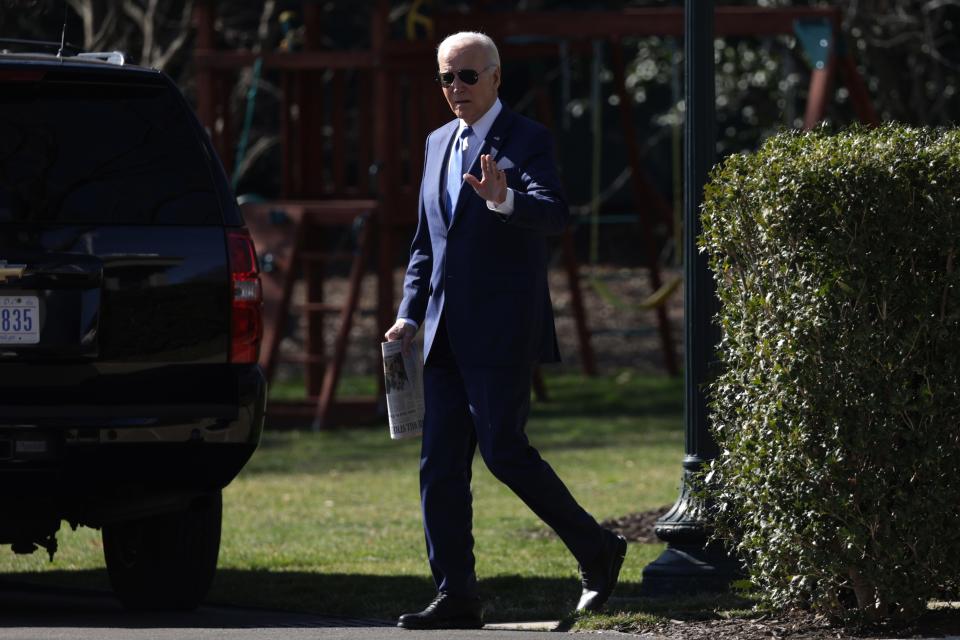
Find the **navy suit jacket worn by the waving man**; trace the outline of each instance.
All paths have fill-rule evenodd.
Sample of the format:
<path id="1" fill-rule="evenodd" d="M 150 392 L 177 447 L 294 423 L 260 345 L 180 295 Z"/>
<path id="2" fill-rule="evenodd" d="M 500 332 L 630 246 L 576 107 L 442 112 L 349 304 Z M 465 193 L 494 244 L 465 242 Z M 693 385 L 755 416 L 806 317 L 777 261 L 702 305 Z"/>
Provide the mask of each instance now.
<path id="1" fill-rule="evenodd" d="M 546 128 L 503 107 L 470 173 L 481 176 L 490 154 L 514 190 L 514 210 L 501 216 L 466 182 L 448 228 L 443 214 L 447 158 L 459 120 L 427 137 L 417 231 L 398 317 L 419 323 L 424 358 L 443 314 L 456 361 L 519 366 L 560 359 L 547 289 L 549 234 L 569 210 Z"/>

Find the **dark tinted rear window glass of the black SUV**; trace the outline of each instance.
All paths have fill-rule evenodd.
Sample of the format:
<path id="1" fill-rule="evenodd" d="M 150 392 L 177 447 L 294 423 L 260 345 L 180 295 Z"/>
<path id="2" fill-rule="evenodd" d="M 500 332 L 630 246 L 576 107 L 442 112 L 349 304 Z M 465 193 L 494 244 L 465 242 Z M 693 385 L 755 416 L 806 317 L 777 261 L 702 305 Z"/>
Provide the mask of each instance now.
<path id="1" fill-rule="evenodd" d="M 0 85 L 0 223 L 221 221 L 197 129 L 168 87 Z"/>

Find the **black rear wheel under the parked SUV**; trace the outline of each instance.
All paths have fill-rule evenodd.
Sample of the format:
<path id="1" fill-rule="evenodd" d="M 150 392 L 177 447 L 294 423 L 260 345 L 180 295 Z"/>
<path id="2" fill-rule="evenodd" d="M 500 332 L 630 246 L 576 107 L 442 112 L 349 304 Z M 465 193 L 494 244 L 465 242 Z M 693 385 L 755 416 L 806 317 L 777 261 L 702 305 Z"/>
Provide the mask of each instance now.
<path id="1" fill-rule="evenodd" d="M 223 498 L 103 527 L 103 555 L 113 591 L 127 609 L 195 609 L 217 568 Z"/>

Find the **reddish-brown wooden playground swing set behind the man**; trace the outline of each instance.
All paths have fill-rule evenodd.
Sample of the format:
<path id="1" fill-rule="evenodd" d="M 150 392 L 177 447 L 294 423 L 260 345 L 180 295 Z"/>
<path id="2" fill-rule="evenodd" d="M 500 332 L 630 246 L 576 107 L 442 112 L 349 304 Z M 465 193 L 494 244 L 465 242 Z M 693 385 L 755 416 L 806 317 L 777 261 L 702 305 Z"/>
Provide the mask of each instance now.
<path id="1" fill-rule="evenodd" d="M 421 2 L 413 3 L 414 7 Z M 230 94 L 244 70 L 279 74 L 282 157 L 281 196 L 271 202 L 244 205 L 244 218 L 261 253 L 264 269 L 265 332 L 261 364 L 268 380 L 281 359 L 304 366 L 306 400 L 271 402 L 271 425 L 310 423 L 315 428 L 373 420 L 382 412 L 377 397 L 347 398 L 337 394 L 347 341 L 358 313 L 359 293 L 371 257 L 376 272 L 376 321 L 384 330 L 394 320 L 394 270 L 405 253 L 416 223 L 423 143 L 426 134 L 451 117 L 432 72 L 435 47 L 446 34 L 483 31 L 501 51 L 507 66 L 557 56 L 558 42 L 578 55 L 590 55 L 591 42 L 603 41 L 620 97 L 621 129 L 631 168 L 633 201 L 643 237 L 640 249 L 649 273 L 651 293 L 665 284 L 658 265 L 653 228 L 672 224 L 672 207 L 647 177 L 635 131 L 632 103 L 625 89 L 622 41 L 637 36 L 683 36 L 680 8 L 618 11 L 503 12 L 478 2 L 469 14 L 435 10 L 430 17 L 411 12 L 408 32 L 423 30 L 431 37 L 391 37 L 390 3 L 376 0 L 370 17 L 370 46 L 357 50 L 326 50 L 320 45 L 325 29 L 319 3 L 303 3 L 304 36 L 298 51 L 220 50 L 215 46 L 217 3 L 200 0 L 194 8 L 196 29 L 197 111 L 224 165 L 234 166 L 241 123 L 230 112 Z M 412 25 L 412 26 L 411 26 Z M 863 80 L 850 53 L 842 47 L 841 14 L 833 8 L 761 9 L 719 7 L 715 33 L 724 36 L 797 35 L 811 57 L 809 99 L 804 126 L 820 121 L 833 89 L 845 82 L 858 118 L 876 123 Z M 418 29 L 415 27 L 420 27 Z M 819 49 L 818 49 L 819 48 Z M 537 88 L 536 113 L 554 127 L 546 87 Z M 333 251 L 324 239 L 332 230 L 351 230 L 354 246 Z M 571 233 L 560 242 L 577 327 L 580 361 L 590 375 L 596 371 L 590 347 L 587 312 Z M 346 299 L 336 305 L 324 299 L 324 273 L 336 261 L 349 265 Z M 295 281 L 305 300 L 295 303 Z M 662 305 L 653 308 L 663 367 L 678 371 L 673 336 Z M 279 349 L 291 316 L 306 320 L 304 349 L 284 354 Z M 324 347 L 325 314 L 336 314 L 333 348 Z M 371 344 L 371 353 L 379 345 Z M 380 380 L 382 384 L 382 379 Z M 538 393 L 544 393 L 538 385 Z M 382 394 L 378 394 L 382 396 Z"/>

